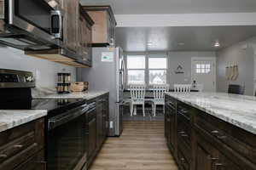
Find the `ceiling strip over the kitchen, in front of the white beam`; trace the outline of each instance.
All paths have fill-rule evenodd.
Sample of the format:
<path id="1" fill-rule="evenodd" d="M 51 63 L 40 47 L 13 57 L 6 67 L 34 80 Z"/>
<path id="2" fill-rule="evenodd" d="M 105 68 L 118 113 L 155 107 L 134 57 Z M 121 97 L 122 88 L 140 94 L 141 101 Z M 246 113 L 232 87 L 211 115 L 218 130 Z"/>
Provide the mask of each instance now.
<path id="1" fill-rule="evenodd" d="M 256 12 L 256 0 L 80 0 L 108 4 L 114 14 L 191 14 Z"/>

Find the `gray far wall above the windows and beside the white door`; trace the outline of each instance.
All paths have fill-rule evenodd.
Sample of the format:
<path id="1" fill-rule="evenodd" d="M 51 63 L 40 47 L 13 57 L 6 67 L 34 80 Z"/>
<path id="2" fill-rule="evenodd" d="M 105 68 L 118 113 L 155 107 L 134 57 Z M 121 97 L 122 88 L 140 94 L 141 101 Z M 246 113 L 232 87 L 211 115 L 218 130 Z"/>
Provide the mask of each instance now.
<path id="1" fill-rule="evenodd" d="M 170 88 L 173 88 L 175 83 L 191 83 L 191 58 L 193 57 L 216 57 L 215 52 L 147 52 L 147 53 L 132 53 L 127 54 L 145 54 L 150 57 L 168 57 L 167 82 Z M 178 65 L 183 66 L 184 74 L 175 74 Z M 146 77 L 148 79 L 148 77 Z M 146 82 L 148 82 L 146 80 Z"/>

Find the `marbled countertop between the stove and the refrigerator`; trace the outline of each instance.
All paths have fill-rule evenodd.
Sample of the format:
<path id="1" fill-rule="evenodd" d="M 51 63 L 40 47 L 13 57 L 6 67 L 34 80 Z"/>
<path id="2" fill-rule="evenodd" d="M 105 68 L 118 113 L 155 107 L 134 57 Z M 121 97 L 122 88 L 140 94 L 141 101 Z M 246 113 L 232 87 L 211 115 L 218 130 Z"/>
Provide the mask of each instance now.
<path id="1" fill-rule="evenodd" d="M 108 94 L 108 91 L 87 91 L 87 92 L 74 92 L 71 94 L 48 94 L 39 95 L 34 94 L 33 99 L 94 99 L 103 94 Z"/>

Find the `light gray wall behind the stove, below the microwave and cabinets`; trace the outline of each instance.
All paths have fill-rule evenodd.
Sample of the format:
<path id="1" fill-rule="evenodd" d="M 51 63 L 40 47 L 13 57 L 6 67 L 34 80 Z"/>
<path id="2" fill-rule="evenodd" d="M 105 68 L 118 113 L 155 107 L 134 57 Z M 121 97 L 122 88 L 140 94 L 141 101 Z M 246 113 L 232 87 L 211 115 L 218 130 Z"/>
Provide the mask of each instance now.
<path id="1" fill-rule="evenodd" d="M 74 67 L 27 56 L 24 51 L 19 49 L 0 47 L 0 55 L 0 68 L 32 71 L 36 77 L 38 88 L 54 88 L 56 86 L 56 73 L 62 69 L 71 72 L 73 81 L 76 78 Z"/>

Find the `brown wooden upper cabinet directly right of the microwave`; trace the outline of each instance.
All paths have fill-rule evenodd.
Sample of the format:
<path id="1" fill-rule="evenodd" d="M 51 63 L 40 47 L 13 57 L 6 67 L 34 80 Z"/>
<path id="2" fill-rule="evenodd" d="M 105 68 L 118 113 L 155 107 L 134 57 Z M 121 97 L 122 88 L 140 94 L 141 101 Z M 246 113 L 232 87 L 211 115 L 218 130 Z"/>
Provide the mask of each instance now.
<path id="1" fill-rule="evenodd" d="M 60 9 L 63 17 L 63 35 L 60 47 L 47 50 L 26 50 L 25 54 L 49 59 L 64 65 L 90 67 L 93 20 L 90 19 L 79 0 L 45 0 Z"/>

